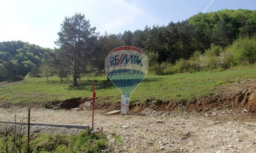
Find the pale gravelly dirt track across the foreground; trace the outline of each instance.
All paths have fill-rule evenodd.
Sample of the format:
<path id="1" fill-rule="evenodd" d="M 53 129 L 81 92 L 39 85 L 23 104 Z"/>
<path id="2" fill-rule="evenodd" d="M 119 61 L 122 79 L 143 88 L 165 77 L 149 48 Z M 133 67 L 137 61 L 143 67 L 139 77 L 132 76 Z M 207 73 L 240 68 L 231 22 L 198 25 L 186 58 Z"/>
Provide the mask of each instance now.
<path id="1" fill-rule="evenodd" d="M 0 120 L 13 120 L 14 114 L 21 119 L 27 110 L 0 108 Z M 91 111 L 31 109 L 31 122 L 91 125 Z M 96 111 L 95 127 L 107 133 L 110 152 L 256 152 L 256 116 L 244 110 L 164 113 L 145 109 L 125 116 Z M 114 135 L 121 136 L 121 144 Z"/>

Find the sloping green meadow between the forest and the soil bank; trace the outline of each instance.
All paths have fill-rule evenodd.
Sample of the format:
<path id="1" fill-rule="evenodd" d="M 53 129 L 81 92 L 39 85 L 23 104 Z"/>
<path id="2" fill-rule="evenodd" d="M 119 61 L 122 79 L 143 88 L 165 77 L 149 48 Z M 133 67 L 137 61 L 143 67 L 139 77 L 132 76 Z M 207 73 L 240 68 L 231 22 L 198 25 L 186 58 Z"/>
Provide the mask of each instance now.
<path id="1" fill-rule="evenodd" d="M 220 93 L 214 87 L 225 83 L 240 82 L 243 79 L 256 78 L 255 68 L 243 70 L 225 70 L 222 72 L 196 72 L 166 76 L 147 74 L 146 78 L 131 95 L 130 101 L 145 102 L 146 98 L 161 100 L 187 100 L 205 95 Z M 104 101 L 120 101 L 121 93 L 106 76 L 83 77 L 78 86 L 72 86 L 72 78 L 66 78 L 62 83 L 57 77 L 27 78 L 13 83 L 0 83 L 0 98 L 3 101 L 18 102 L 44 102 L 64 100 L 72 97 L 85 97 L 92 95 L 92 81 L 96 81 L 98 97 L 113 96 Z M 13 90 L 14 89 L 14 90 Z M 6 94 L 7 91 L 13 90 Z"/>

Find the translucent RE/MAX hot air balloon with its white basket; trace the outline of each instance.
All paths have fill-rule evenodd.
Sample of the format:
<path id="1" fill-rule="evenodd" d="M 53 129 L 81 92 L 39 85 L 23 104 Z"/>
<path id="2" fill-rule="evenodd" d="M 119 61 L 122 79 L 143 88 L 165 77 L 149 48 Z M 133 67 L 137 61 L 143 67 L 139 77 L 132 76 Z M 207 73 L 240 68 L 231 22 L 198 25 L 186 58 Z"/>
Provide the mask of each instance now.
<path id="1" fill-rule="evenodd" d="M 147 56 L 136 47 L 118 47 L 107 55 L 105 71 L 110 81 L 122 93 L 121 114 L 128 113 L 129 98 L 145 78 L 148 68 Z"/>

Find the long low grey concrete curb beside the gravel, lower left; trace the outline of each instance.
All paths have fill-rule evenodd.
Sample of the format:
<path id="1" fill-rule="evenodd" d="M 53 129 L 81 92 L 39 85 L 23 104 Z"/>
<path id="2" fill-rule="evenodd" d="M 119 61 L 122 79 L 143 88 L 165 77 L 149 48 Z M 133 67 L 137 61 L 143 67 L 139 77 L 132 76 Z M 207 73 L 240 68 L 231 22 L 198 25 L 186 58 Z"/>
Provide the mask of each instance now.
<path id="1" fill-rule="evenodd" d="M 0 120 L 0 123 L 6 123 L 6 124 L 15 124 L 15 122 L 11 121 L 4 121 Z M 16 124 L 21 124 L 21 122 L 16 122 Z M 27 122 L 22 122 L 22 125 L 27 125 Z M 37 126 L 47 126 L 47 127 L 65 127 L 65 128 L 74 128 L 74 129 L 84 129 L 89 131 L 90 127 L 87 125 L 65 125 L 65 124 L 51 124 L 51 123 L 35 123 L 30 122 L 30 126 L 37 125 Z"/>

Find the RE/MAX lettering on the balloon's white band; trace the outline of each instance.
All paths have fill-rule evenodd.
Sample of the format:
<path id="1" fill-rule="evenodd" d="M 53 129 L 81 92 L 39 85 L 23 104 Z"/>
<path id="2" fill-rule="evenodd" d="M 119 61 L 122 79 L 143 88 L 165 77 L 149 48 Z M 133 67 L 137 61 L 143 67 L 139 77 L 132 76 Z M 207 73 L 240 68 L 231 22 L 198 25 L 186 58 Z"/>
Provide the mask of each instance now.
<path id="1" fill-rule="evenodd" d="M 122 54 L 119 58 L 119 55 L 110 57 L 110 66 L 118 66 L 119 64 L 122 64 L 125 62 L 125 64 L 131 63 L 136 64 L 138 66 L 142 66 L 141 60 L 143 57 L 139 58 L 137 55 L 125 55 Z"/>

